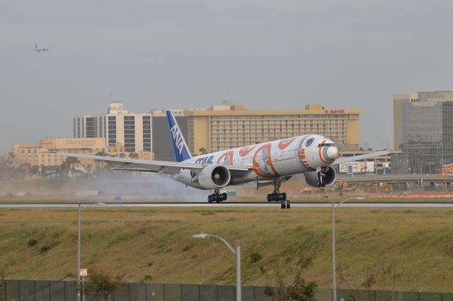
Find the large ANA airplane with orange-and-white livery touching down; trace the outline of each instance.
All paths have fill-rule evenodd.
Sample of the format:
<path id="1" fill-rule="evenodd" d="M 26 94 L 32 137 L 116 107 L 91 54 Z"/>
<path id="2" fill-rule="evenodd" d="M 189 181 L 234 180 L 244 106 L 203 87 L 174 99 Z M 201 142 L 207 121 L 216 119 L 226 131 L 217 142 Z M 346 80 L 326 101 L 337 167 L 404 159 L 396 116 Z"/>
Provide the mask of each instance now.
<path id="1" fill-rule="evenodd" d="M 294 175 L 304 174 L 309 186 L 323 188 L 336 181 L 333 165 L 389 154 L 389 151 L 384 150 L 338 158 L 338 148 L 332 140 L 310 134 L 193 157 L 171 110 L 166 110 L 166 117 L 173 161 L 148 161 L 56 151 L 53 153 L 120 164 L 113 170 L 170 174 L 171 178 L 186 187 L 214 191 L 207 197 L 208 203 L 226 200 L 227 195 L 221 193 L 222 188 L 249 182 L 256 182 L 257 188 L 273 186 L 273 193 L 267 195 L 268 202 L 285 201 L 287 195 L 280 192 L 280 187 Z"/>

